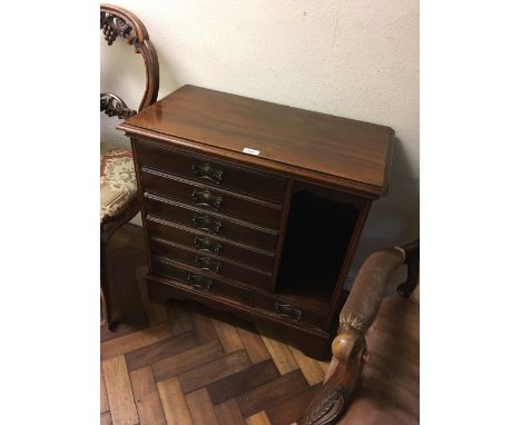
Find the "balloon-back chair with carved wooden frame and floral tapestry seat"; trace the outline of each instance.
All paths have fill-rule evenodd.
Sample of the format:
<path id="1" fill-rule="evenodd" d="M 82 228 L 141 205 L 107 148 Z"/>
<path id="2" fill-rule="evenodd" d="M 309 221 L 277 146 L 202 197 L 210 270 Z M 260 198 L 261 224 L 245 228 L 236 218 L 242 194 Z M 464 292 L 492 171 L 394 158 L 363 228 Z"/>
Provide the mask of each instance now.
<path id="1" fill-rule="evenodd" d="M 153 105 L 159 90 L 159 61 L 142 22 L 130 11 L 110 4 L 101 4 L 100 28 L 109 46 L 118 38 L 125 39 L 141 55 L 146 69 L 146 87 L 137 111 Z M 109 117 L 128 119 L 137 111 L 112 92 L 101 92 L 101 112 Z M 136 172 L 130 150 L 101 141 L 100 228 L 101 228 L 101 316 L 102 324 L 114 330 L 114 290 L 107 269 L 106 247 L 114 233 L 139 211 Z"/>

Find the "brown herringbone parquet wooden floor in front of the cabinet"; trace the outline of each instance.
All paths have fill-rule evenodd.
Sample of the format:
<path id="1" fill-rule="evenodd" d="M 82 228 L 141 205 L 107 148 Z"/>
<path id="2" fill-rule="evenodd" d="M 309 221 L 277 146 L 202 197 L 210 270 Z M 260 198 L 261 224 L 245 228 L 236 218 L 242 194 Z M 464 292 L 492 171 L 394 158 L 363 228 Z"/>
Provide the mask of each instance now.
<path id="1" fill-rule="evenodd" d="M 126 317 L 101 326 L 101 424 L 295 423 L 327 363 L 283 335 L 189 302 L 148 302 L 141 228 L 126 225 L 109 245 Z"/>

